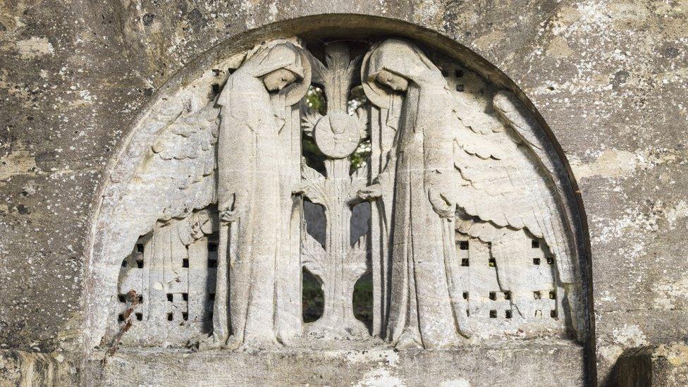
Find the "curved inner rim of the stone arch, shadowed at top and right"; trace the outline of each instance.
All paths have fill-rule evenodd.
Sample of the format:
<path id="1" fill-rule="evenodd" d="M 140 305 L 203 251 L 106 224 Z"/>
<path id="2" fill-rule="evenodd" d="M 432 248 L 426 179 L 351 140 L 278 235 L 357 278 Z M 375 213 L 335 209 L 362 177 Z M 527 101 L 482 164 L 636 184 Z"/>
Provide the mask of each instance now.
<path id="1" fill-rule="evenodd" d="M 449 59 L 460 61 L 464 66 L 488 79 L 496 87 L 515 94 L 527 107 L 532 118 L 538 123 L 548 141 L 553 145 L 559 161 L 565 166 L 565 176 L 574 197 L 570 197 L 567 207 L 572 212 L 575 245 L 579 264 L 584 307 L 586 307 L 585 334 L 586 374 L 589 381 L 596 380 L 594 309 L 592 300 L 591 259 L 587 221 L 581 196 L 567 159 L 563 154 L 555 135 L 527 96 L 508 78 L 474 51 L 455 42 L 453 39 L 428 30 L 424 27 L 407 23 L 403 20 L 379 16 L 326 14 L 304 16 L 264 25 L 254 30 L 242 32 L 218 44 L 199 55 L 185 68 L 171 76 L 152 99 L 141 108 L 135 119 L 135 125 L 128 130 L 116 157 L 109 164 L 97 202 L 92 212 L 89 245 L 85 264 L 84 290 L 82 294 L 85 305 L 85 326 L 83 329 L 83 360 L 87 361 L 90 353 L 101 340 L 108 309 L 107 300 L 115 294 L 116 276 L 126 248 L 135 243 L 136 238 L 152 229 L 157 219 L 137 219 L 136 227 L 130 225 L 113 225 L 112 214 L 122 210 L 122 199 L 129 179 L 140 164 L 145 162 L 147 149 L 150 149 L 161 130 L 161 122 L 173 115 L 174 109 L 183 109 L 183 104 L 195 103 L 194 94 L 190 91 L 198 81 L 220 63 L 242 51 L 251 49 L 254 44 L 268 39 L 297 35 L 306 42 L 317 42 L 320 39 L 376 39 L 380 37 L 403 37 L 422 46 L 438 51 Z M 176 101 L 176 99 L 183 99 Z M 206 201 L 212 201 L 207 199 Z M 137 214 L 130 214 L 135 218 Z M 113 249 L 113 246 L 116 248 Z"/>

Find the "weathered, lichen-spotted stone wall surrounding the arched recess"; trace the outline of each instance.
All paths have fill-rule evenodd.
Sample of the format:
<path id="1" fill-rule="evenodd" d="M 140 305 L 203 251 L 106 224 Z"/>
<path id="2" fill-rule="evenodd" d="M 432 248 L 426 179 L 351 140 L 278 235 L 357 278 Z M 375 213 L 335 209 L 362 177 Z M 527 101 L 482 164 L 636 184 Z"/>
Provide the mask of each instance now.
<path id="1" fill-rule="evenodd" d="M 688 336 L 686 2 L 18 0 L 0 4 L 3 348 L 78 346 L 99 188 L 156 92 L 247 29 L 334 11 L 445 35 L 539 110 L 587 214 L 600 381 L 625 348 Z"/>

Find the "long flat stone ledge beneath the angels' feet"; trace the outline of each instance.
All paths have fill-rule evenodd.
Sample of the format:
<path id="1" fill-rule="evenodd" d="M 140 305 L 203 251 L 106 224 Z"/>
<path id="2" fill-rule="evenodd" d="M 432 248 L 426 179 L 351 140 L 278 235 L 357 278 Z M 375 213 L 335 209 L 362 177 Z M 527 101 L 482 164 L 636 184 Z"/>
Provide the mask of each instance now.
<path id="1" fill-rule="evenodd" d="M 505 343 L 506 344 L 506 343 Z M 342 343 L 339 348 L 350 346 Z M 338 348 L 338 347 L 331 347 Z M 339 350 L 227 352 L 123 348 L 93 382 L 111 385 L 250 386 L 582 386 L 584 349 L 556 341 L 473 345 L 454 350 L 395 351 L 386 345 Z"/>

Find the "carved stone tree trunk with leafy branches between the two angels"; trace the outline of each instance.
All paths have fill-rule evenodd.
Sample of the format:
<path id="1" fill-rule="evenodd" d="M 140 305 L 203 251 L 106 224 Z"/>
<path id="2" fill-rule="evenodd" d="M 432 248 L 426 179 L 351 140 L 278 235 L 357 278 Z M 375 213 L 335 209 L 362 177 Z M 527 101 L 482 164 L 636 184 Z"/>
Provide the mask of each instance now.
<path id="1" fill-rule="evenodd" d="M 352 293 L 356 281 L 369 271 L 365 236 L 350 245 L 352 206 L 359 203 L 357 191 L 367 183 L 367 171 L 350 174 L 350 155 L 365 130 L 365 117 L 346 113 L 347 99 L 355 80 L 357 59 L 350 59 L 345 44 L 328 44 L 326 65 L 311 58 L 314 83 L 324 87 L 328 112 L 307 116 L 305 130 L 328 158 L 326 176 L 302 165 L 303 192 L 325 210 L 326 239 L 322 247 L 303 233 L 302 264 L 322 282 L 325 298 L 323 316 L 309 326 L 309 332 L 350 336 L 367 334 L 353 314 Z"/>

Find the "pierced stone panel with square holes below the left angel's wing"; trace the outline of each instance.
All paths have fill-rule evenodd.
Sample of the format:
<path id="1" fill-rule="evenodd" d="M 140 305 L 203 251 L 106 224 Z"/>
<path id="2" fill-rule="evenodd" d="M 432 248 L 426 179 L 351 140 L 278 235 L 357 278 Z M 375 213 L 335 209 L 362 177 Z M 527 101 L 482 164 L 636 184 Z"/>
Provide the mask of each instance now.
<path id="1" fill-rule="evenodd" d="M 159 223 L 122 261 L 112 315 L 123 343 L 185 345 L 212 332 L 218 235 L 210 216 Z"/>

